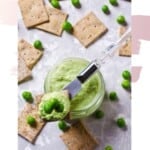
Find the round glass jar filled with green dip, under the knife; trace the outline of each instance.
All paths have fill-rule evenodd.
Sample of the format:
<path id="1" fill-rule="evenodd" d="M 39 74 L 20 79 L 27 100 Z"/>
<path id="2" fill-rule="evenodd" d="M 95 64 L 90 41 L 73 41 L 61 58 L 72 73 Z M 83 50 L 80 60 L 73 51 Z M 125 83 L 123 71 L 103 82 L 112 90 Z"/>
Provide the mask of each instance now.
<path id="1" fill-rule="evenodd" d="M 46 76 L 45 92 L 62 90 L 89 64 L 82 58 L 67 58 L 54 66 Z M 97 70 L 83 85 L 81 91 L 71 100 L 70 119 L 80 119 L 95 112 L 105 95 L 101 72 Z"/>

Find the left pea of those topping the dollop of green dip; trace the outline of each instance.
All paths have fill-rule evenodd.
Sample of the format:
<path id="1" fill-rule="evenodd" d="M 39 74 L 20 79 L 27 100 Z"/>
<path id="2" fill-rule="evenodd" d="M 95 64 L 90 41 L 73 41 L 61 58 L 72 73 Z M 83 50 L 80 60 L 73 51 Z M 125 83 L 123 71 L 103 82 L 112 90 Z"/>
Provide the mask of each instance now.
<path id="1" fill-rule="evenodd" d="M 48 101 L 46 101 L 44 103 L 44 111 L 47 113 L 47 114 L 50 114 L 53 109 L 55 109 L 56 105 L 58 104 L 58 100 L 57 99 L 50 99 Z"/>

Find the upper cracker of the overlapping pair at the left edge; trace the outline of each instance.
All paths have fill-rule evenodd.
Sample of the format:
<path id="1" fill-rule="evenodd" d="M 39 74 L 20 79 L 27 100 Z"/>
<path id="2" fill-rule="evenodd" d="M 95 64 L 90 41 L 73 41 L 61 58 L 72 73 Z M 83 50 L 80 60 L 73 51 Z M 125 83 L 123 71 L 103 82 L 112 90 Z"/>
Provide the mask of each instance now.
<path id="1" fill-rule="evenodd" d="M 34 65 L 43 55 L 43 52 L 34 48 L 30 43 L 25 40 L 20 40 L 18 44 L 18 51 L 21 57 L 24 59 L 28 68 L 32 69 Z"/>

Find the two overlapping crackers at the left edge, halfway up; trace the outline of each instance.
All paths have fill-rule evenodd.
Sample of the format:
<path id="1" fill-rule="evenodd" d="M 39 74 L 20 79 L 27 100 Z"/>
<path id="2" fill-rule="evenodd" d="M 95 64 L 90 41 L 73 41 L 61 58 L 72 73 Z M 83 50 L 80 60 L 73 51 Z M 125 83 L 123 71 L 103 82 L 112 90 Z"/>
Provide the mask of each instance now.
<path id="1" fill-rule="evenodd" d="M 42 57 L 43 52 L 22 39 L 18 43 L 18 53 L 18 83 L 22 83 L 31 78 L 31 70 Z"/>

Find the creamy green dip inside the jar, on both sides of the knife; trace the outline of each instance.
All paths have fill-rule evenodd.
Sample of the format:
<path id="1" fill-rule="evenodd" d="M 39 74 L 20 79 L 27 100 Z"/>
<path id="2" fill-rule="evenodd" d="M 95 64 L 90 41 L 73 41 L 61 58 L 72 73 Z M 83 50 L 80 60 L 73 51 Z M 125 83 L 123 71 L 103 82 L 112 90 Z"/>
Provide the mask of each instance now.
<path id="1" fill-rule="evenodd" d="M 45 92 L 62 90 L 67 84 L 89 64 L 88 61 L 79 58 L 66 59 L 48 73 L 45 80 Z M 101 88 L 99 73 L 95 73 L 83 85 L 81 91 L 71 100 L 71 112 L 82 111 L 92 106 Z"/>

